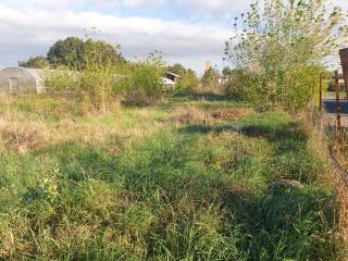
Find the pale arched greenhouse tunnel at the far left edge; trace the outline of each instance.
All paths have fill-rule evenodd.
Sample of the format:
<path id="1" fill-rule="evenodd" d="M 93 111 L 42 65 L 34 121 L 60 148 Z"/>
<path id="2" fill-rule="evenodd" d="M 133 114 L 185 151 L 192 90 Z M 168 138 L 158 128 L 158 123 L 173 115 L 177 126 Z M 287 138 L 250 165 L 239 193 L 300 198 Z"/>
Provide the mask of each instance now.
<path id="1" fill-rule="evenodd" d="M 44 71 L 39 69 L 7 67 L 0 71 L 0 92 L 41 92 Z"/>

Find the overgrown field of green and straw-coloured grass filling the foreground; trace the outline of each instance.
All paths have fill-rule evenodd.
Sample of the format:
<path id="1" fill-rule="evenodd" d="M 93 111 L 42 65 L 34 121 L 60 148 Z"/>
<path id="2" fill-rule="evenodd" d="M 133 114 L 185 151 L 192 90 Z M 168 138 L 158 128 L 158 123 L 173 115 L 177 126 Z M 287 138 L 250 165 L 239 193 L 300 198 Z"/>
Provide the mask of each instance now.
<path id="1" fill-rule="evenodd" d="M 326 165 L 286 113 L 46 97 L 0 113 L 0 259 L 336 260 Z"/>

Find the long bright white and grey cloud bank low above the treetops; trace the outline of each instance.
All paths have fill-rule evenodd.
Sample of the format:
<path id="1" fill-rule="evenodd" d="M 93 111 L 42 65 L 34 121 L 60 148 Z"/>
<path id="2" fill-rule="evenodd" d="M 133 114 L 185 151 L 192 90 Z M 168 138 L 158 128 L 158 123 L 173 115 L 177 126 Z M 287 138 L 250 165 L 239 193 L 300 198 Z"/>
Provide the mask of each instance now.
<path id="1" fill-rule="evenodd" d="M 36 0 L 38 1 L 38 0 Z M 0 63 L 15 63 L 29 55 L 45 54 L 58 39 L 84 35 L 84 28 L 97 27 L 100 37 L 121 44 L 127 57 L 142 57 L 157 49 L 169 60 L 185 58 L 221 59 L 229 32 L 219 25 L 186 24 L 146 17 L 120 17 L 99 12 L 33 7 L 13 8 L 0 3 Z M 197 60 L 198 61 L 198 60 Z M 202 65 L 195 64 L 200 69 Z"/>

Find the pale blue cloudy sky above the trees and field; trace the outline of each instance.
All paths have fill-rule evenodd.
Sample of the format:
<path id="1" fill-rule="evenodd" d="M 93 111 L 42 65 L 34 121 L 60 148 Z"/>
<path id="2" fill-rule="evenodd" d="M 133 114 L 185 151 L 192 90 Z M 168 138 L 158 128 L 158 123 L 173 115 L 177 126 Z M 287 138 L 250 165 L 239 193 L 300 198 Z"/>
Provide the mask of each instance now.
<path id="1" fill-rule="evenodd" d="M 348 10 L 348 0 L 333 0 Z M 224 65 L 234 17 L 253 0 L 0 0 L 0 67 L 45 55 L 57 40 L 86 35 L 122 46 L 127 59 L 163 53 L 202 73 Z M 99 33 L 95 34 L 91 28 Z"/>

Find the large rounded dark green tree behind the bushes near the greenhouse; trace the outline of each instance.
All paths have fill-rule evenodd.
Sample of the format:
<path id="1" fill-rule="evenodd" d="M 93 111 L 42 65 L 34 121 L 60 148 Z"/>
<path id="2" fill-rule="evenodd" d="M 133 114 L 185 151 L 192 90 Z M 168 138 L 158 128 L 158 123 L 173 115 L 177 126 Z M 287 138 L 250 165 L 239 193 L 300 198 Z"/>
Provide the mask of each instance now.
<path id="1" fill-rule="evenodd" d="M 84 70 L 88 63 L 98 62 L 102 65 L 110 61 L 115 64 L 124 61 L 119 49 L 119 46 L 114 47 L 103 40 L 69 37 L 57 41 L 50 48 L 47 59 L 53 67 L 63 65 L 71 70 Z"/>

